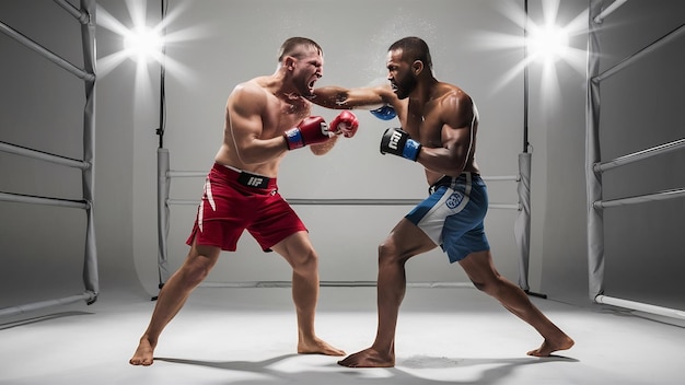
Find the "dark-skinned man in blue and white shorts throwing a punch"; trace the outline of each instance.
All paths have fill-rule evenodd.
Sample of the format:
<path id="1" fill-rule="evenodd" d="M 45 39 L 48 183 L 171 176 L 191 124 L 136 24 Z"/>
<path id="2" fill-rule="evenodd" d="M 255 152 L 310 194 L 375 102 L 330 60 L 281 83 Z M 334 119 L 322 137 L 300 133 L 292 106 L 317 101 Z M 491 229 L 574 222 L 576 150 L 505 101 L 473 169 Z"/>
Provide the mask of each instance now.
<path id="1" fill-rule="evenodd" d="M 501 277 L 492 262 L 483 229 L 487 191 L 475 162 L 478 112 L 460 88 L 438 81 L 428 45 L 407 37 L 387 52 L 387 86 L 314 90 L 312 102 L 328 108 L 386 106 L 402 128 L 387 129 L 381 152 L 420 163 L 431 195 L 397 223 L 379 247 L 379 325 L 373 345 L 339 364 L 350 368 L 393 366 L 395 328 L 406 291 L 405 264 L 440 245 L 457 261 L 476 288 L 533 326 L 543 343 L 527 352 L 546 357 L 569 349 L 573 340 L 553 324 L 525 292 Z M 387 115 L 387 114 L 384 114 Z"/>

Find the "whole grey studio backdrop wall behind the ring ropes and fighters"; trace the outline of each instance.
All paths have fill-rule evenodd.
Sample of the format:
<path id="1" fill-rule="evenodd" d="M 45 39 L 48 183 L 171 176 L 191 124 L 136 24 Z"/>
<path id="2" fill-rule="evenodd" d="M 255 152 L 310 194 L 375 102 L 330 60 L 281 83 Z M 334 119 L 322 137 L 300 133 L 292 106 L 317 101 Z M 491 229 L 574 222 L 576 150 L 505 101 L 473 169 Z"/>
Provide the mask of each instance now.
<path id="1" fill-rule="evenodd" d="M 132 26 L 130 4 L 147 4 L 150 25 L 159 22 L 158 1 L 125 2 L 98 1 L 98 20 L 105 14 Z M 543 4 L 554 1 L 531 1 L 531 18 L 544 19 Z M 653 7 L 651 4 L 654 4 Z M 609 26 L 635 24 L 635 28 L 606 35 L 607 56 L 603 63 L 619 60 L 634 48 L 660 34 L 662 21 L 677 22 L 685 3 L 675 0 L 630 0 L 616 13 Z M 588 8 L 588 1 L 559 3 L 558 19 L 566 25 Z M 511 13 L 511 10 L 519 13 Z M 324 47 L 326 66 L 320 85 L 364 85 L 384 79 L 384 57 L 387 46 L 406 35 L 423 37 L 433 55 L 437 77 L 466 90 L 478 103 L 481 126 L 478 139 L 478 163 L 484 175 L 516 173 L 516 155 L 522 148 L 523 77 L 513 71 L 523 57 L 521 47 L 506 48 L 506 36 L 522 36 L 522 0 L 430 0 L 420 4 L 410 1 L 170 1 L 174 20 L 167 34 L 186 34 L 189 40 L 167 46 L 166 73 L 167 126 L 165 147 L 171 152 L 173 170 L 208 171 L 221 141 L 225 100 L 239 82 L 256 75 L 272 73 L 276 51 L 281 42 L 293 35 L 314 38 Z M 0 19 L 48 48 L 81 60 L 78 26 L 62 27 L 60 20 L 71 16 L 58 12 L 47 0 L 5 0 L 0 2 Z M 640 22 L 648 20 L 651 22 Z M 654 22 L 657 20 L 657 22 Z M 682 23 L 682 20 L 680 21 Z M 665 22 L 663 22 L 665 23 Z M 625 38 L 630 36 L 630 38 Z M 497 38 L 492 38 L 497 37 Z M 609 44 L 612 43 L 612 44 Z M 587 35 L 572 37 L 572 46 L 583 50 Z M 682 45 L 682 42 L 678 43 Z M 120 50 L 123 39 L 116 33 L 98 26 L 97 55 L 100 59 Z M 614 48 L 611 48 L 614 47 Z M 680 47 L 680 46 L 677 46 Z M 675 51 L 677 52 L 677 47 Z M 36 58 L 34 52 L 0 35 L 0 81 L 2 83 L 0 133 L 4 141 L 40 148 L 48 152 L 63 150 L 67 154 L 81 152 L 81 109 L 83 90 L 80 81 L 60 72 Z M 681 49 L 682 51 L 682 49 Z M 664 54 L 665 55 L 665 54 Z M 673 54 L 671 54 L 673 55 Z M 659 58 L 660 56 L 658 56 Z M 13 60 L 5 60 L 13 58 Z M 650 95 L 665 96 L 669 104 L 660 104 L 654 113 L 659 126 L 670 129 L 666 136 L 682 135 L 682 108 L 664 107 L 682 100 L 674 74 L 664 65 L 680 66 L 677 56 L 664 60 L 646 61 L 635 68 L 657 77 L 657 86 Z M 681 58 L 682 60 L 682 58 Z M 172 66 L 172 62 L 175 66 Z M 682 68 L 678 67 L 678 68 Z M 118 67 L 103 71 L 98 61 L 97 132 L 95 175 L 95 219 L 101 270 L 101 300 L 113 289 L 138 290 L 144 295 L 156 294 L 156 148 L 159 127 L 159 65 L 143 67 L 146 77 L 137 77 L 137 65 L 126 60 Z M 584 101 L 585 77 L 566 63 L 557 66 L 558 89 L 554 97 L 543 93 L 542 68 L 531 67 L 530 141 L 533 147 L 532 166 L 532 232 L 531 287 L 550 298 L 588 302 L 587 264 L 587 202 L 584 176 Z M 671 73 L 671 74 L 669 74 Z M 677 73 L 677 72 L 676 72 Z M 618 104 L 635 96 L 630 80 L 605 88 L 615 95 L 604 100 L 617 103 L 614 118 L 620 117 L 617 128 L 625 127 L 616 148 L 607 148 L 606 155 L 620 154 L 634 148 L 630 141 L 636 132 L 646 132 L 645 125 L 632 125 L 622 110 L 639 109 L 634 104 Z M 634 102 L 630 102 L 634 103 Z M 611 107 L 607 106 L 607 107 Z M 663 112 L 667 114 L 663 114 Z M 71 113 L 73 112 L 73 113 Z M 334 112 L 317 109 L 316 114 L 330 119 Z M 421 198 L 426 185 L 421 170 L 400 159 L 382 156 L 378 151 L 382 130 L 392 122 L 378 120 L 367 112 L 358 113 L 361 128 L 356 138 L 341 141 L 334 151 L 321 159 L 306 149 L 294 151 L 283 162 L 280 175 L 281 192 L 287 198 Z M 605 116 L 607 119 L 611 117 Z M 653 121 L 653 120 L 650 120 Z M 661 132 L 661 131 L 660 131 Z M 662 133 L 660 133 L 661 136 Z M 670 138 L 670 137 L 667 137 Z M 666 137 L 654 137 L 659 141 Z M 619 143 L 627 143 L 618 148 Z M 647 144 L 647 143 L 646 143 Z M 677 177 L 682 159 L 670 158 L 667 167 L 653 165 L 632 174 Z M 0 153 L 2 189 L 78 197 L 81 191 L 78 173 L 57 172 L 55 167 L 35 161 Z M 626 180 L 607 186 L 618 191 L 636 188 L 634 175 L 626 172 Z M 57 183 L 44 183 L 44 182 Z M 659 186 L 671 186 L 659 179 Z M 43 186 L 49 186 L 42 191 Z M 665 188 L 665 187 L 664 187 Z M 515 201 L 515 185 L 489 183 L 492 202 Z M 636 191 L 637 192 L 637 191 Z M 175 179 L 174 198 L 199 199 L 201 180 Z M 312 231 L 312 240 L 321 255 L 324 280 L 375 279 L 375 252 L 392 225 L 409 207 L 315 207 L 298 206 Z M 678 211 L 680 210 L 680 211 Z M 2 304 L 13 305 L 39 301 L 54 293 L 71 294 L 80 290 L 82 238 L 84 219 L 77 213 L 62 214 L 59 208 L 36 210 L 0 202 L 0 246 L 3 268 L 0 269 Z M 665 237 L 682 229 L 682 208 L 675 207 L 663 215 L 661 211 L 650 222 L 642 223 L 641 214 L 624 218 L 609 214 L 607 222 L 616 233 L 607 233 L 607 242 L 622 255 L 614 257 L 613 270 L 607 277 L 613 287 L 640 291 L 643 296 L 666 295 L 664 285 L 673 288 L 682 271 L 683 247 L 673 243 L 650 241 L 645 246 L 631 247 L 628 242 L 659 238 L 665 228 Z M 170 264 L 177 267 L 187 253 L 185 238 L 195 215 L 193 207 L 172 208 L 170 233 Z M 636 218 L 637 217 L 637 218 Z M 486 229 L 492 242 L 499 270 L 508 278 L 518 276 L 516 247 L 513 238 L 515 212 L 491 210 Z M 5 220 L 11 219 L 11 220 Z M 639 236 L 625 235 L 618 230 L 640 223 Z M 655 231 L 650 223 L 658 223 Z M 637 229 L 637 228 L 636 228 Z M 682 238 L 682 237 L 680 237 Z M 673 241 L 673 240 L 671 240 Z M 618 246 L 618 247 L 617 247 Z M 263 254 L 246 235 L 239 253 L 222 256 L 212 271 L 212 281 L 288 280 L 290 269 L 274 255 Z M 649 258 L 646 258 L 648 254 Z M 657 256 L 665 256 L 648 264 Z M 628 271 L 630 261 L 640 261 L 637 271 L 647 268 L 646 276 L 636 278 Z M 408 275 L 415 281 L 464 281 L 461 269 L 448 267 L 440 252 L 415 258 Z M 649 284 L 637 287 L 636 281 Z M 676 288 L 677 289 L 677 288 Z M 43 295 L 42 293 L 48 294 Z M 140 291 L 142 293 L 142 291 Z M 670 291 L 671 296 L 673 290 Z M 643 299 L 648 300 L 648 299 Z M 682 303 L 682 295 L 680 296 Z M 647 301 L 649 302 L 649 301 Z"/>

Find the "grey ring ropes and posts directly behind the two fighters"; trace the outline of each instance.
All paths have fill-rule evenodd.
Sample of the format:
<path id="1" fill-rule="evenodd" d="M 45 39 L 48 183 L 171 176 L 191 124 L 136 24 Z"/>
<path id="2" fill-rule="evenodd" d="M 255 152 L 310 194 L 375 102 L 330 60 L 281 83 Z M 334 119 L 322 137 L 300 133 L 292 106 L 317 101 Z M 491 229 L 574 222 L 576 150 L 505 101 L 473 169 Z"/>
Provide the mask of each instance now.
<path id="1" fill-rule="evenodd" d="M 524 211 L 523 207 L 530 208 L 530 156 L 531 154 L 520 154 L 520 175 L 484 176 L 486 182 L 516 182 L 519 185 L 519 203 L 490 203 L 490 209 L 519 210 L 516 221 L 530 223 L 530 210 Z M 527 168 L 526 168 L 527 167 Z M 175 171 L 170 168 L 169 149 L 158 149 L 158 270 L 162 288 L 170 277 L 167 257 L 167 236 L 170 229 L 170 207 L 171 206 L 197 206 L 198 199 L 173 199 L 170 197 L 172 178 L 205 178 L 207 172 L 201 171 Z M 286 199 L 291 205 L 299 206 L 415 206 L 422 199 Z M 530 225 L 522 228 L 524 232 L 530 231 Z M 524 234 L 530 238 L 530 234 Z M 527 244 L 524 245 L 527 252 Z M 521 261 L 520 283 L 522 289 L 527 291 L 527 254 L 525 264 Z M 523 259 L 523 258 L 522 258 Z M 525 273 L 523 270 L 525 269 Z M 289 287 L 288 281 L 254 281 L 254 282 L 204 282 L 201 287 L 209 288 L 280 288 Z M 368 287 L 375 285 L 374 281 L 322 281 L 322 287 Z M 409 282 L 409 287 L 420 288 L 461 288 L 473 287 L 471 282 Z"/>

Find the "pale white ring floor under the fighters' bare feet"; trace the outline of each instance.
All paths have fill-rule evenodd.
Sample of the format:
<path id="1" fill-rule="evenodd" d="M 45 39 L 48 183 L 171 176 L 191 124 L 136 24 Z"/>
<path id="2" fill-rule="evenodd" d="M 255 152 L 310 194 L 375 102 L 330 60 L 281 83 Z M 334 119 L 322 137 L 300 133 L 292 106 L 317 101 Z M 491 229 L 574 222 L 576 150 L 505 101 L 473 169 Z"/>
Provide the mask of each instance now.
<path id="1" fill-rule="evenodd" d="M 393 369 L 298 355 L 290 289 L 197 289 L 149 368 L 128 359 L 153 302 L 103 293 L 0 319 L 0 384 L 685 384 L 685 328 L 611 306 L 532 301 L 576 339 L 525 355 L 538 335 L 474 289 L 409 288 Z M 348 353 L 375 334 L 375 288 L 322 288 L 317 332 Z"/>

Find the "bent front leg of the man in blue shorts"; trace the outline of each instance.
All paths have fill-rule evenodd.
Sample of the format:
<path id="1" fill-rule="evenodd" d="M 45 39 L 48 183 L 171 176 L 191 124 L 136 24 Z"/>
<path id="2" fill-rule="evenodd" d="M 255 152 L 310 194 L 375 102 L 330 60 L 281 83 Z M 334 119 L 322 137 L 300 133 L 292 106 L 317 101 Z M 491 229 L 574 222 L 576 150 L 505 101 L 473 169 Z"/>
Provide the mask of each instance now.
<path id="1" fill-rule="evenodd" d="M 405 264 L 436 244 L 419 228 L 403 219 L 379 246 L 379 325 L 373 345 L 338 362 L 349 368 L 390 368 L 395 365 L 395 329 L 399 305 L 406 292 Z"/>

